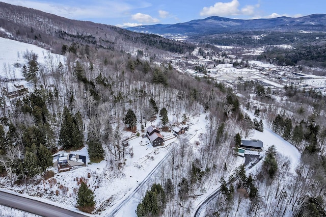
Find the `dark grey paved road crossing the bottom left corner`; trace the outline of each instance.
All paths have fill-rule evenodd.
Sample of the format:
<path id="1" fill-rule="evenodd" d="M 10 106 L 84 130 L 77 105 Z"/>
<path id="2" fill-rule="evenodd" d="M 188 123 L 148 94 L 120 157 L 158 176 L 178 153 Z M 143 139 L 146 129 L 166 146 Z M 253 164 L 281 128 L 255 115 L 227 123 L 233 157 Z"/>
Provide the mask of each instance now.
<path id="1" fill-rule="evenodd" d="M 41 201 L 32 200 L 30 198 L 25 198 L 2 191 L 0 191 L 0 204 L 48 217 L 87 216 L 48 203 L 43 203 Z"/>

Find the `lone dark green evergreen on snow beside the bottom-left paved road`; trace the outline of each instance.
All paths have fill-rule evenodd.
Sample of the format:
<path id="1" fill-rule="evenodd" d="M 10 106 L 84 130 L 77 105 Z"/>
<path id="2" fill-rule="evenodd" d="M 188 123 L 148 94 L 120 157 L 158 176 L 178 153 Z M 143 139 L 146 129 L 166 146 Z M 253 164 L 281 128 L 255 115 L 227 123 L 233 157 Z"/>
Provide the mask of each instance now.
<path id="1" fill-rule="evenodd" d="M 87 208 L 94 210 L 95 201 L 93 191 L 87 187 L 85 182 L 80 184 L 77 195 L 77 205 L 81 210 L 88 210 Z"/>

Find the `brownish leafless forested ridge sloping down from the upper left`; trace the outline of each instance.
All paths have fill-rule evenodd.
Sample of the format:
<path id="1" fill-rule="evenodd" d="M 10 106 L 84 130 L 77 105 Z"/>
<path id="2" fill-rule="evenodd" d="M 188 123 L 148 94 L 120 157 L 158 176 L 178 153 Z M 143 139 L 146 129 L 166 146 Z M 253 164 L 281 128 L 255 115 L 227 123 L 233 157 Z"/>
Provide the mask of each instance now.
<path id="1" fill-rule="evenodd" d="M 62 45 L 68 47 L 90 46 L 98 49 L 131 51 L 137 46 L 171 52 L 184 53 L 194 49 L 193 45 L 171 41 L 156 35 L 133 33 L 116 26 L 89 21 L 70 20 L 42 11 L 0 3 L 0 25 L 16 40 L 37 44 L 62 52 Z M 8 35 L 3 34 L 3 37 Z M 88 55 L 88 53 L 86 52 Z"/>

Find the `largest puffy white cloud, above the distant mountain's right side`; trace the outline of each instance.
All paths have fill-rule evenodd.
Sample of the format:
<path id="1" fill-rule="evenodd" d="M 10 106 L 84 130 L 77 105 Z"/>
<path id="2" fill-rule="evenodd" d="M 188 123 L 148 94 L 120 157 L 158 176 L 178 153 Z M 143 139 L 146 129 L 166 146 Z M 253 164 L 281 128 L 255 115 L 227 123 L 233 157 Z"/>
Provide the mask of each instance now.
<path id="1" fill-rule="evenodd" d="M 247 5 L 239 9 L 240 3 L 238 0 L 232 0 L 228 3 L 218 2 L 213 6 L 204 7 L 200 12 L 201 16 L 237 16 L 247 15 L 251 16 L 255 14 L 255 10 L 260 7 L 257 5 Z"/>

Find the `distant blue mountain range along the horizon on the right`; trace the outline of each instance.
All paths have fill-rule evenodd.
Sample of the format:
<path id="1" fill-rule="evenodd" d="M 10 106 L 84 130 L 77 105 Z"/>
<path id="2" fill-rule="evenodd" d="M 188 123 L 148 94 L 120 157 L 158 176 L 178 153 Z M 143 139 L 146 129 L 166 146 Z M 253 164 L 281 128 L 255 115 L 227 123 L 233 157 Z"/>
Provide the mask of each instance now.
<path id="1" fill-rule="evenodd" d="M 152 34 L 215 34 L 235 31 L 323 31 L 326 27 L 326 14 L 311 14 L 303 17 L 276 17 L 259 19 L 231 19 L 210 16 L 175 24 L 141 25 L 126 28 L 134 32 Z"/>

